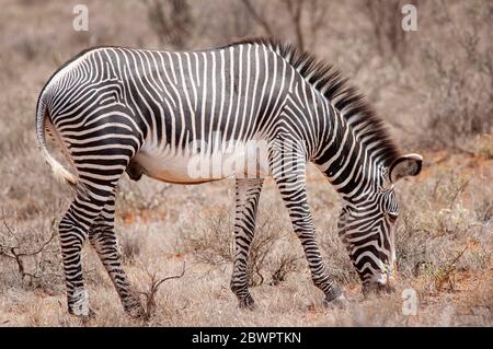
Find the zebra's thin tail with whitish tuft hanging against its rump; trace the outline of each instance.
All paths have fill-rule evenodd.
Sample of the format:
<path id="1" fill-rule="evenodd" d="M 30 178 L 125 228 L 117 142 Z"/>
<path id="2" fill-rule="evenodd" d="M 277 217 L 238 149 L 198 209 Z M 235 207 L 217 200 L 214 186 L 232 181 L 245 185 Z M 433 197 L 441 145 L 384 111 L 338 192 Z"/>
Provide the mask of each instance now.
<path id="1" fill-rule="evenodd" d="M 78 187 L 78 178 L 76 175 L 70 173 L 67 168 L 64 167 L 51 154 L 48 152 L 48 148 L 46 147 L 46 118 L 48 117 L 48 110 L 46 107 L 46 93 L 42 92 L 39 98 L 37 101 L 36 107 L 36 135 L 39 150 L 42 152 L 43 159 L 49 165 L 53 171 L 54 177 L 59 183 L 65 183 L 77 189 Z"/>

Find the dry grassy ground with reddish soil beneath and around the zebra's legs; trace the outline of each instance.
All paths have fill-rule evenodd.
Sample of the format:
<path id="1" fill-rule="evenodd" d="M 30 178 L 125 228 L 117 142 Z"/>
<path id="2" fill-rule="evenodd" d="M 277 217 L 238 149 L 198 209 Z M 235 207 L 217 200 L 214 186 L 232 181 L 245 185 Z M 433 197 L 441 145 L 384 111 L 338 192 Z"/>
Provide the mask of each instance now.
<path id="1" fill-rule="evenodd" d="M 394 294 L 363 300 L 359 284 L 348 265 L 342 243 L 334 232 L 337 198 L 329 184 L 310 168 L 309 193 L 319 241 L 325 259 L 343 283 L 352 301 L 347 310 L 322 307 L 322 294 L 310 282 L 305 260 L 293 263 L 285 280 L 273 282 L 285 257 L 301 257 L 302 251 L 290 232 L 287 213 L 272 181 L 266 183 L 260 208 L 259 239 L 276 235 L 260 266 L 264 280 L 252 288 L 257 301 L 253 312 L 241 311 L 230 292 L 229 247 L 231 181 L 202 186 L 167 186 L 144 179 L 123 183 L 117 231 L 125 268 L 136 288 L 147 291 L 151 276 L 180 274 L 181 279 L 162 284 L 153 316 L 134 321 L 125 315 L 116 292 L 98 260 L 85 248 L 84 267 L 90 301 L 98 316 L 89 326 L 413 326 L 492 325 L 493 274 L 491 268 L 492 160 L 448 156 L 439 165 L 427 165 L 422 177 L 402 183 L 397 189 L 402 213 L 398 226 L 400 278 Z M 467 183 L 467 184 L 466 184 Z M 449 189 L 454 187 L 455 189 Z M 152 197 L 138 207 L 140 195 Z M 475 194 L 473 194 L 475 193 Z M 433 199 L 433 197 L 436 197 Z M 207 205 L 214 198 L 214 205 Z M 486 207 L 490 205 L 490 207 Z M 62 206 L 62 205 L 61 205 Z M 51 216 L 5 222 L 24 236 L 43 226 L 49 237 Z M 2 228 L 4 231 L 4 226 Z M 32 240 L 30 240 L 32 241 Z M 206 243 L 204 243 L 204 241 Z M 42 244 L 28 244 L 26 251 Z M 2 258 L 0 269 L 0 324 L 7 326 L 78 326 L 67 315 L 57 242 L 36 260 L 25 258 L 26 270 L 38 278 L 24 277 L 13 260 Z M 285 258 L 289 259 L 289 258 Z M 296 258 L 291 258 L 296 259 Z M 256 278 L 256 283 L 260 283 Z M 275 284 L 276 283 L 276 284 Z M 413 288 L 419 294 L 417 316 L 402 314 L 401 291 Z"/>

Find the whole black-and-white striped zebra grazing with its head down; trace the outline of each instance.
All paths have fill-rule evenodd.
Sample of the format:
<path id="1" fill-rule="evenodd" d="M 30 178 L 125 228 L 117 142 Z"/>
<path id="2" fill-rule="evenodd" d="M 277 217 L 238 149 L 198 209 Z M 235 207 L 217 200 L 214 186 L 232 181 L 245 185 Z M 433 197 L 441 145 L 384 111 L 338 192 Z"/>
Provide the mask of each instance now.
<path id="1" fill-rule="evenodd" d="M 45 131 L 61 144 L 77 174 L 48 153 Z M 337 229 L 364 292 L 389 289 L 398 217 L 393 184 L 417 175 L 422 164 L 417 154 L 399 154 L 382 121 L 337 71 L 268 39 L 199 51 L 85 50 L 43 88 L 36 132 L 55 176 L 77 193 L 59 223 L 68 309 L 76 315 L 89 314 L 81 268 L 87 239 L 124 309 L 141 312 L 122 269 L 114 231 L 115 190 L 125 171 L 133 179 L 145 174 L 180 184 L 236 177 L 231 290 L 240 306 L 252 307 L 246 261 L 266 175 L 278 186 L 313 283 L 325 302 L 344 303 L 316 241 L 306 190 L 308 161 L 343 199 Z M 263 155 L 250 156 L 249 141 L 266 144 Z M 209 175 L 191 170 L 197 159 L 203 165 L 218 156 L 234 165 Z M 245 160 L 254 166 L 238 165 Z"/>

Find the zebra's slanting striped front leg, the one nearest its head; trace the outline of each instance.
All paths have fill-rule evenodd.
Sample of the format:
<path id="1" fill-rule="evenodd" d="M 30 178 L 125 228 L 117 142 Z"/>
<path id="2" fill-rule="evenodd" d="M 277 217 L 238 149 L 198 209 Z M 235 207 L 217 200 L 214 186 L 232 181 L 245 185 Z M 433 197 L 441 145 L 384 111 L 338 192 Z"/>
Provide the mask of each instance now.
<path id="1" fill-rule="evenodd" d="M 307 199 L 303 153 L 296 153 L 293 149 L 288 152 L 273 149 L 270 161 L 293 228 L 303 247 L 314 286 L 325 294 L 325 304 L 333 302 L 344 305 L 346 300 L 328 272 L 316 240 L 316 229 Z"/>

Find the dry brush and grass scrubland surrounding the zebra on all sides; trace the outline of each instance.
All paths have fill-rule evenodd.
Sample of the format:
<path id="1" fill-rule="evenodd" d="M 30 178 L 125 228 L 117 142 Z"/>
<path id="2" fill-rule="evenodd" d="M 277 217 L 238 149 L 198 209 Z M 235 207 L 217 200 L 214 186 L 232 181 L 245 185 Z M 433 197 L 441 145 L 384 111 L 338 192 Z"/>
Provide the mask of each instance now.
<path id="1" fill-rule="evenodd" d="M 76 3 L 90 31 L 72 30 Z M 491 326 L 493 305 L 493 4 L 414 1 L 404 33 L 398 0 L 1 0 L 0 326 Z M 340 200 L 314 168 L 309 198 L 325 260 L 352 305 L 326 310 L 302 249 L 267 181 L 249 267 L 254 312 L 229 291 L 233 182 L 167 185 L 125 177 L 117 234 L 125 269 L 147 298 L 135 321 L 91 248 L 84 249 L 98 315 L 67 314 L 56 226 L 72 196 L 53 179 L 35 141 L 38 92 L 83 48 L 206 48 L 273 35 L 339 67 L 367 94 L 403 151 L 424 154 L 420 177 L 399 184 L 398 292 L 364 300 L 335 233 Z M 157 288 L 159 279 L 180 275 Z M 419 295 L 417 316 L 401 291 Z"/>

